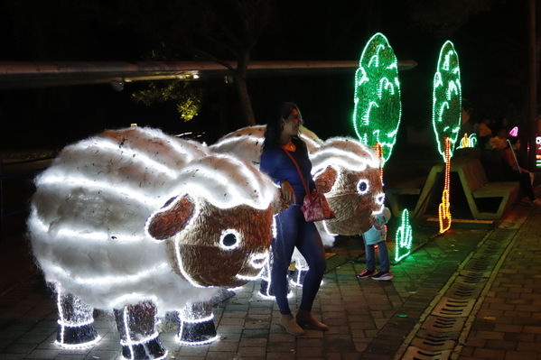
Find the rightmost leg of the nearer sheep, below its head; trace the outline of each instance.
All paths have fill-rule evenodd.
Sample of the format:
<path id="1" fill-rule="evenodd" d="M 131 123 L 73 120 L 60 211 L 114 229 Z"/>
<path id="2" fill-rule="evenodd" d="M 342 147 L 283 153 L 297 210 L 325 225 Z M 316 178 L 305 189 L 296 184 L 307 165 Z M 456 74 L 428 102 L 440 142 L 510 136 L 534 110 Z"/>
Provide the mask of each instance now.
<path id="1" fill-rule="evenodd" d="M 210 301 L 188 303 L 179 311 L 178 341 L 182 345 L 209 344 L 216 339 L 216 327 Z"/>

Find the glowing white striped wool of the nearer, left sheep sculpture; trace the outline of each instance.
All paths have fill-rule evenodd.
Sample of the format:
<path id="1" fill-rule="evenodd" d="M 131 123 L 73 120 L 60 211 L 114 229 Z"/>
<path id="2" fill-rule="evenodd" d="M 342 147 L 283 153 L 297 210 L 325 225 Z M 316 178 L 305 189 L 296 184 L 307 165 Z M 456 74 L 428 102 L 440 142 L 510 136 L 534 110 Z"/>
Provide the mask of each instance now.
<path id="1" fill-rule="evenodd" d="M 175 273 L 167 241 L 145 231 L 148 217 L 183 194 L 217 208 L 266 209 L 275 197 L 252 166 L 140 127 L 67 146 L 35 185 L 28 228 L 46 281 L 97 309 L 153 300 L 160 314 L 216 289 Z"/>

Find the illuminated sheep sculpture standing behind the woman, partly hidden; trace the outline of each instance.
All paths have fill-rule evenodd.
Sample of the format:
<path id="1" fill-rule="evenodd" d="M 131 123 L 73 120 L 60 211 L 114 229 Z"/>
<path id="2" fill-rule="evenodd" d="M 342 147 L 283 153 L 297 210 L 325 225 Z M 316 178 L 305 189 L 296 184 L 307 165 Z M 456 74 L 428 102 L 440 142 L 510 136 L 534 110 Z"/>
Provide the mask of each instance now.
<path id="1" fill-rule="evenodd" d="M 233 153 L 259 166 L 265 125 L 249 126 L 227 134 L 210 146 L 213 152 Z M 385 194 L 379 177 L 379 160 L 359 141 L 335 137 L 323 142 L 316 134 L 301 127 L 312 162 L 316 188 L 325 194 L 336 218 L 317 222 L 323 245 L 331 246 L 335 235 L 358 235 L 370 228 L 374 215 L 383 211 Z M 308 265 L 295 250 L 295 273 L 292 282 L 301 286 Z M 268 267 L 264 272 L 261 293 L 272 295 Z"/>

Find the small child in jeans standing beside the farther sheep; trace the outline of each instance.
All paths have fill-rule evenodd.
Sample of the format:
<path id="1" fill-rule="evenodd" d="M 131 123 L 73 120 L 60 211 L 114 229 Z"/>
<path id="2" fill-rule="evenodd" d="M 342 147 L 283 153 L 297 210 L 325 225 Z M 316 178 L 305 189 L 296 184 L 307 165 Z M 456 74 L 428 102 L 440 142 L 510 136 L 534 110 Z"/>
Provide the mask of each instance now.
<path id="1" fill-rule="evenodd" d="M 387 221 L 391 218 L 391 211 L 385 208 L 381 214 L 376 216 L 374 225 L 362 234 L 365 244 L 365 254 L 367 258 L 367 268 L 357 274 L 359 279 L 368 279 L 378 281 L 389 281 L 393 279 L 390 272 L 389 254 L 387 251 Z M 379 252 L 379 272 L 376 272 L 374 264 L 374 245 L 378 245 Z"/>

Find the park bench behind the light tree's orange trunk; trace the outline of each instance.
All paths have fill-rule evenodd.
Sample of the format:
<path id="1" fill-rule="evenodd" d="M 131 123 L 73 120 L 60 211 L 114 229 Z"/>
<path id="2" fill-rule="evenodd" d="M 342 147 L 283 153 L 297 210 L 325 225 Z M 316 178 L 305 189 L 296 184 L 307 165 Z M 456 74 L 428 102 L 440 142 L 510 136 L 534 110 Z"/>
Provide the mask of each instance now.
<path id="1" fill-rule="evenodd" d="M 436 180 L 445 169 L 443 163 L 435 164 L 428 178 L 424 183 L 423 190 L 419 196 L 414 210 L 415 217 L 422 217 L 433 193 L 441 197 L 442 189 L 434 189 Z M 508 205 L 515 202 L 518 198 L 519 184 L 518 181 L 497 181 L 489 182 L 487 175 L 479 161 L 475 158 L 463 158 L 451 161 L 451 172 L 456 172 L 468 206 L 471 210 L 471 215 L 479 220 L 492 220 L 501 217 L 508 208 Z M 451 189 L 458 191 L 459 189 Z M 493 211 L 487 211 L 487 208 L 480 209 L 478 204 L 480 199 L 494 198 L 496 199 L 496 207 L 492 207 Z"/>

